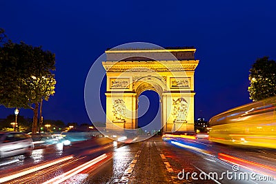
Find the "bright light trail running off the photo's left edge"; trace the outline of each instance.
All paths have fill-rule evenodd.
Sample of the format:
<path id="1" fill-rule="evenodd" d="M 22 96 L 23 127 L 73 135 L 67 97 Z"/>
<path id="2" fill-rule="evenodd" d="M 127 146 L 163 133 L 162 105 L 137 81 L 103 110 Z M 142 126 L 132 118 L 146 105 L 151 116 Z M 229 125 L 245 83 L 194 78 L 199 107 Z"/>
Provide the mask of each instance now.
<path id="1" fill-rule="evenodd" d="M 21 170 L 21 171 L 17 172 L 16 174 L 12 174 L 10 176 L 5 176 L 3 178 L 0 178 L 0 183 L 6 182 L 6 181 L 10 181 L 10 180 L 12 180 L 14 178 L 18 178 L 18 177 L 24 176 L 26 174 L 30 174 L 32 172 L 37 172 L 38 170 L 42 170 L 42 169 L 44 169 L 46 167 L 50 167 L 52 165 L 55 165 L 57 163 L 61 163 L 63 161 L 68 161 L 68 160 L 70 160 L 72 158 L 73 158 L 72 156 L 66 156 L 66 157 L 63 157 L 61 159 L 56 159 L 54 161 L 46 162 L 43 165 L 40 165 L 38 167 L 35 166 L 35 167 L 28 168 L 26 170 Z"/>

